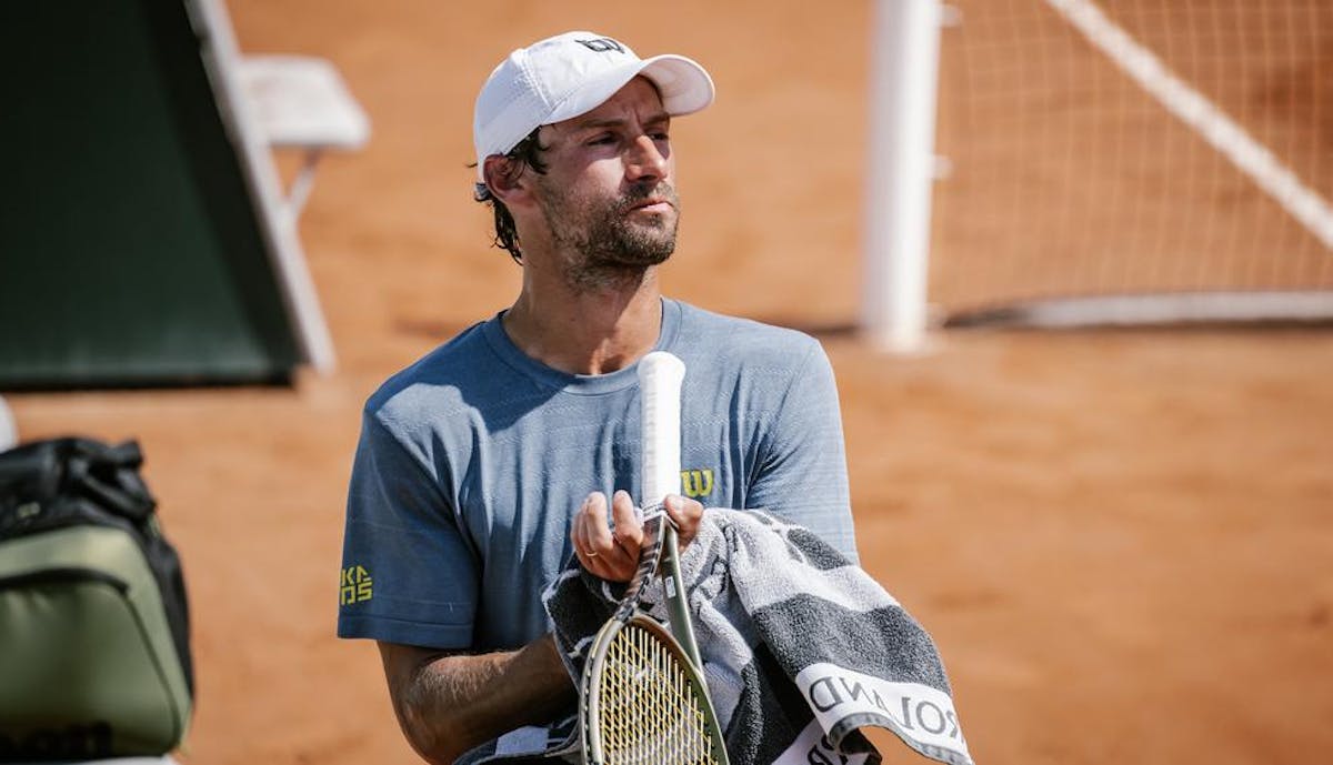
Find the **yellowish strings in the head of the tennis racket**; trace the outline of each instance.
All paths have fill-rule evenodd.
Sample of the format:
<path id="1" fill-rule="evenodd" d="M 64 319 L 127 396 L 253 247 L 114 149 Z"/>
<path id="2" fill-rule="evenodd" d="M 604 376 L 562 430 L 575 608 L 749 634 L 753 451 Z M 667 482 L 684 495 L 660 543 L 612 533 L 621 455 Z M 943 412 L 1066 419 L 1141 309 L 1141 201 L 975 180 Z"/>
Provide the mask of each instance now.
<path id="1" fill-rule="evenodd" d="M 708 716 L 678 658 L 633 625 L 608 646 L 600 678 L 607 765 L 717 762 Z"/>

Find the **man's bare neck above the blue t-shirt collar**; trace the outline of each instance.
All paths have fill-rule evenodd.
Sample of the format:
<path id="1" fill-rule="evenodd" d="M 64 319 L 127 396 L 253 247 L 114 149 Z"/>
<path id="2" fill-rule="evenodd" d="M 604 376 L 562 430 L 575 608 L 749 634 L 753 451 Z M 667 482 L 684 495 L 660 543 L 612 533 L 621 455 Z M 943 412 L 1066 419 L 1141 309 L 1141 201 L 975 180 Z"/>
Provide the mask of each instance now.
<path id="1" fill-rule="evenodd" d="M 652 351 L 661 333 L 657 269 L 596 289 L 529 279 L 504 315 L 509 339 L 527 356 L 571 375 L 607 375 Z"/>

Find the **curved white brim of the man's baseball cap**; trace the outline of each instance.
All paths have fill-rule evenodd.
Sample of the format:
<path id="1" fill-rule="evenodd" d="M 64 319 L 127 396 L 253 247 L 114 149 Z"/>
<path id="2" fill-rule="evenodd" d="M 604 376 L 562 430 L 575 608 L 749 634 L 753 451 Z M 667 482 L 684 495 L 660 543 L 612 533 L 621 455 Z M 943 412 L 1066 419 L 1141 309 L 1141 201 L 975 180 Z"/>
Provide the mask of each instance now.
<path id="1" fill-rule="evenodd" d="M 569 99 L 556 104 L 543 124 L 549 125 L 587 115 L 605 104 L 639 75 L 648 77 L 657 87 L 663 108 L 672 116 L 690 115 L 713 103 L 713 79 L 708 72 L 685 56 L 666 53 L 609 69 L 600 77 L 589 80 Z"/>

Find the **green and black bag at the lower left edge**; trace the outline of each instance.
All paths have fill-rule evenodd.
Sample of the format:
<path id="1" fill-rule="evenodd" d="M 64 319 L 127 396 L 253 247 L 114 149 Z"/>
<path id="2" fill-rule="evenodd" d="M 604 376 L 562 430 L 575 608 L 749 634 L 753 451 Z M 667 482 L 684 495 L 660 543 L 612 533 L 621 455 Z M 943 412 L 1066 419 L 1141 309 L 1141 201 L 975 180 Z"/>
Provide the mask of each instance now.
<path id="1" fill-rule="evenodd" d="M 0 453 L 0 762 L 157 756 L 195 697 L 180 560 L 135 441 Z"/>

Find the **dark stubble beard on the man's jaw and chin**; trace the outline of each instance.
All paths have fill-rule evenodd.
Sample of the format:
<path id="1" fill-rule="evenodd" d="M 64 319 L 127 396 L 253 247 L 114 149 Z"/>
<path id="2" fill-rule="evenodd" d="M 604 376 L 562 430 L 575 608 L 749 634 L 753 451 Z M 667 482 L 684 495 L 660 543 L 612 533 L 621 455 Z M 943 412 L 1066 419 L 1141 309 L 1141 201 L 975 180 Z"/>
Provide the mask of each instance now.
<path id="1" fill-rule="evenodd" d="M 648 268 L 665 263 L 676 251 L 680 199 L 669 184 L 633 187 L 607 200 L 583 203 L 548 189 L 541 204 L 552 241 L 565 255 L 567 284 L 579 292 L 635 287 Z M 672 204 L 673 213 L 632 213 L 648 197 Z"/>

